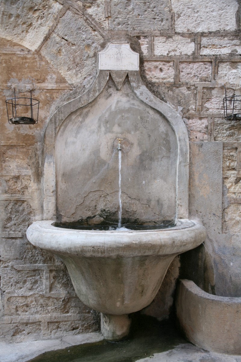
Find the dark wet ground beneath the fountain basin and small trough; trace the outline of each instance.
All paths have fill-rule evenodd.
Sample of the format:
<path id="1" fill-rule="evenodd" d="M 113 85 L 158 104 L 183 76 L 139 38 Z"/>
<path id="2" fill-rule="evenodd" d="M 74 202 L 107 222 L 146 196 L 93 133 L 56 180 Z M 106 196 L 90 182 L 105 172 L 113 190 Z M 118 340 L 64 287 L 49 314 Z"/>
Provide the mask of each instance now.
<path id="1" fill-rule="evenodd" d="M 133 322 L 134 328 L 127 340 L 85 343 L 43 353 L 29 362 L 134 362 L 186 342 L 170 323 L 159 323 L 148 316 L 139 316 Z"/>

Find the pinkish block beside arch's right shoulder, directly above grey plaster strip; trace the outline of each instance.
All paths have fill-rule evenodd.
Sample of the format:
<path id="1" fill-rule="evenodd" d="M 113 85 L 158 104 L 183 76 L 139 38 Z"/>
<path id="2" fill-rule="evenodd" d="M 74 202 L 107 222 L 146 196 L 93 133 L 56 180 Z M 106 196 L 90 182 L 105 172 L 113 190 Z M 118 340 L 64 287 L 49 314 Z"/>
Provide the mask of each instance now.
<path id="1" fill-rule="evenodd" d="M 208 140 L 208 119 L 207 118 L 188 118 L 185 119 L 190 141 L 199 142 Z"/>

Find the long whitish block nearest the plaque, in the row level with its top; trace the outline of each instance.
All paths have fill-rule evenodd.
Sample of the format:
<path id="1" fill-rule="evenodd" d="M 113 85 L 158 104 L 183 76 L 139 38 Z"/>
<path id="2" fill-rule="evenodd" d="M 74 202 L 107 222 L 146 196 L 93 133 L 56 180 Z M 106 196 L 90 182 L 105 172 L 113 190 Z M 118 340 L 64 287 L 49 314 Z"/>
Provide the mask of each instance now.
<path id="1" fill-rule="evenodd" d="M 174 37 L 154 37 L 155 55 L 192 55 L 194 53 L 194 42 L 190 38 L 180 35 Z"/>

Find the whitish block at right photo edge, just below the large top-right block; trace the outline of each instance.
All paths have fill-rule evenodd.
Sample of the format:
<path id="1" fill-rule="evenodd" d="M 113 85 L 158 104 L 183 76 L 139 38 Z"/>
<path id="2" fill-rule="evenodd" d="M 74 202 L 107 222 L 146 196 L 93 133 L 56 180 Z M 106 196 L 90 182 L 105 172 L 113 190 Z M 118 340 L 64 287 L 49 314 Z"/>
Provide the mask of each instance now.
<path id="1" fill-rule="evenodd" d="M 201 55 L 239 55 L 240 53 L 240 39 L 223 36 L 201 38 Z"/>

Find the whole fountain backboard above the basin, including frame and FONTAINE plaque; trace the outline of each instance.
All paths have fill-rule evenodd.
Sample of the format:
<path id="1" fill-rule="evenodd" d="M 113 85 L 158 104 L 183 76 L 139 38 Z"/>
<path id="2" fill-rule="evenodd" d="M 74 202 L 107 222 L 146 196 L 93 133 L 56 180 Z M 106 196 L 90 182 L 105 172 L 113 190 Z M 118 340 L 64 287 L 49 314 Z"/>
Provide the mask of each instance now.
<path id="1" fill-rule="evenodd" d="M 118 70 L 101 69 L 108 54 Z M 129 44 L 109 44 L 97 64 L 90 88 L 83 94 L 74 90 L 46 127 L 44 219 L 117 222 L 117 139 L 122 139 L 122 223 L 188 218 L 189 142 L 183 120 L 145 87 L 139 54 Z"/>

